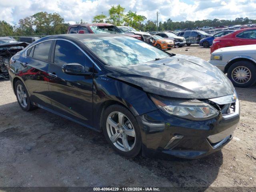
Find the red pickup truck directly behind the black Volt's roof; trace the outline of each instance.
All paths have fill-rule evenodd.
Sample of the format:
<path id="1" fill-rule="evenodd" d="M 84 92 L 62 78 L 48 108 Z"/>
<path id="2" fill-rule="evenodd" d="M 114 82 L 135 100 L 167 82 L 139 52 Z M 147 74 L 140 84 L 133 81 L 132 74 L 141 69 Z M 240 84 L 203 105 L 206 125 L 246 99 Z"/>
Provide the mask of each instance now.
<path id="1" fill-rule="evenodd" d="M 109 23 L 82 23 L 70 25 L 67 33 L 115 33 L 124 34 L 141 40 L 141 36 L 123 33 L 117 26 Z"/>

